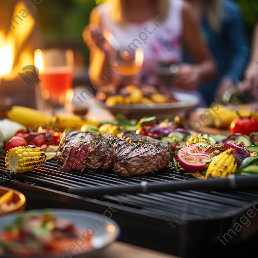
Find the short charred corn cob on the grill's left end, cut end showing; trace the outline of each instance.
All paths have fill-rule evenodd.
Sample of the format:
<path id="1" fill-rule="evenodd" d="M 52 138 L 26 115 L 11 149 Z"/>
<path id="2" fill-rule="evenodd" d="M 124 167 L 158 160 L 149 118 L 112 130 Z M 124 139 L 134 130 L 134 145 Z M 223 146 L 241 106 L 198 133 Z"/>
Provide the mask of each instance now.
<path id="1" fill-rule="evenodd" d="M 45 160 L 43 149 L 34 145 L 20 146 L 7 151 L 5 166 L 14 173 L 22 173 L 39 167 Z"/>

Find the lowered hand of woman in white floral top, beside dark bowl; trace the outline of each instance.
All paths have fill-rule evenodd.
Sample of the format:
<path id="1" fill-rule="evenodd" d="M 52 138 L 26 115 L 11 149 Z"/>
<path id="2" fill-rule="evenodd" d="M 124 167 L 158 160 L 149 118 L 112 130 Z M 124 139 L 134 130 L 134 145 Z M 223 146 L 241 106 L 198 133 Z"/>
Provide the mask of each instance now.
<path id="1" fill-rule="evenodd" d="M 200 75 L 196 66 L 182 64 L 174 78 L 174 85 L 183 90 L 196 90 L 200 83 Z"/>

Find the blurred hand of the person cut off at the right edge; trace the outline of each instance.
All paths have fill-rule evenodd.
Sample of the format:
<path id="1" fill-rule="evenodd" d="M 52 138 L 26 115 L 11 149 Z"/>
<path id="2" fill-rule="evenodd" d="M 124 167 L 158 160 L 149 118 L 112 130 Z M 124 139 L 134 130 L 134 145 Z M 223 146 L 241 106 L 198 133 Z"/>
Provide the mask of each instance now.
<path id="1" fill-rule="evenodd" d="M 241 92 L 248 91 L 258 99 L 258 64 L 256 62 L 250 64 L 246 69 L 240 90 Z"/>

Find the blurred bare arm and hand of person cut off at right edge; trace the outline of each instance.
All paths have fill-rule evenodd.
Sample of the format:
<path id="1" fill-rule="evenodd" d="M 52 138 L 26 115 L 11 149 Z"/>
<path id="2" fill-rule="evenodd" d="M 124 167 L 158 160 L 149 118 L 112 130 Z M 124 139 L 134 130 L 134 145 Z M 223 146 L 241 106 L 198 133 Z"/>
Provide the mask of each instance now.
<path id="1" fill-rule="evenodd" d="M 258 23 L 254 29 L 251 58 L 241 85 L 242 91 L 249 91 L 258 99 Z"/>

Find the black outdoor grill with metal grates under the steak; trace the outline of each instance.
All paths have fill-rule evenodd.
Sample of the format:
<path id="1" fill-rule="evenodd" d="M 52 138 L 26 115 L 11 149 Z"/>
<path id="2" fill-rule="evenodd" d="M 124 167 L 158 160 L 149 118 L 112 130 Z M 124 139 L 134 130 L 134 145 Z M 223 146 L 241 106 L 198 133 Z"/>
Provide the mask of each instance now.
<path id="1" fill-rule="evenodd" d="M 216 256 L 216 252 L 230 251 L 240 241 L 243 243 L 248 239 L 250 243 L 250 236 L 258 230 L 258 216 L 255 216 L 249 218 L 250 227 L 242 225 L 240 232 L 231 234 L 232 239 L 227 237 L 229 243 L 222 239 L 226 246 L 217 238 L 232 229 L 233 224 L 239 222 L 240 217 L 246 215 L 248 209 L 258 202 L 257 190 L 176 191 L 128 194 L 128 198 L 109 195 L 87 198 L 69 191 L 85 186 L 128 186 L 142 181 L 162 184 L 191 177 L 171 170 L 124 178 L 102 171 L 63 173 L 58 168 L 59 165 L 51 160 L 32 171 L 10 174 L 5 168 L 4 157 L 1 157 L 0 169 L 4 175 L 0 179 L 1 186 L 17 189 L 25 194 L 27 209 L 71 208 L 100 214 L 109 211 L 105 215 L 112 216 L 120 225 L 121 241 L 180 257 L 202 257 L 207 252 L 209 255 L 206 257 Z M 236 249 L 230 251 L 231 254 L 234 251 L 239 254 Z"/>

